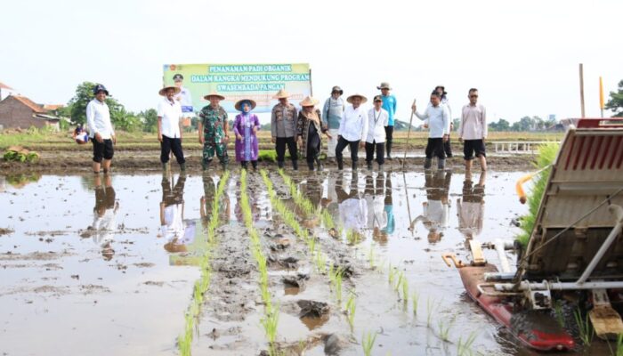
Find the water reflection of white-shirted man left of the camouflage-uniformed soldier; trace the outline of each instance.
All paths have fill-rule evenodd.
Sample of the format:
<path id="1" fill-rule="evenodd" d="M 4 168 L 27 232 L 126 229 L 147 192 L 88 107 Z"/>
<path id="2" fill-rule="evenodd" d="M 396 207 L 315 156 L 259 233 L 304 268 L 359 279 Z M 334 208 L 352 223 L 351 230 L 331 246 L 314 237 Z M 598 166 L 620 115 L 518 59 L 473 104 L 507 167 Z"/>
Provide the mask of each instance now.
<path id="1" fill-rule="evenodd" d="M 175 185 L 174 178 L 162 178 L 162 201 L 160 202 L 160 232 L 166 239 L 168 252 L 184 252 L 186 245 L 195 239 L 195 222 L 184 220 L 184 183 L 186 174 L 180 174 Z"/>

